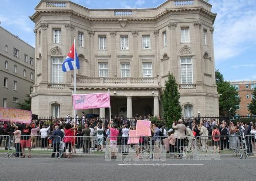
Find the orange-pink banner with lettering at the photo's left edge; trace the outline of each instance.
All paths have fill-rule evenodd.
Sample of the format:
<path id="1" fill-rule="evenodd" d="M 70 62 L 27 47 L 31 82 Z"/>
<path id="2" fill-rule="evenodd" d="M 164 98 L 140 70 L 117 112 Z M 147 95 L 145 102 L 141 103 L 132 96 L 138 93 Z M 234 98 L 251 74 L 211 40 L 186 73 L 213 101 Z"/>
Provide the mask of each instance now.
<path id="1" fill-rule="evenodd" d="M 13 121 L 29 124 L 31 119 L 31 111 L 0 107 L 0 121 Z"/>

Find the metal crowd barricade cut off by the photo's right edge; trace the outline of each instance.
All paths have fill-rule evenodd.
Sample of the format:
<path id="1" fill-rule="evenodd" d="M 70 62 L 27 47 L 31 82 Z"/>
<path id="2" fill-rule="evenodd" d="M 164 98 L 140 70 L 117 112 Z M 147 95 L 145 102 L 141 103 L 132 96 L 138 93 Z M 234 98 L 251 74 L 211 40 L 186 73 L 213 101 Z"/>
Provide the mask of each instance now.
<path id="1" fill-rule="evenodd" d="M 246 158 L 249 159 L 249 156 L 256 155 L 256 143 L 255 143 L 256 135 L 246 135 L 244 137 L 244 148 L 246 153 Z"/>

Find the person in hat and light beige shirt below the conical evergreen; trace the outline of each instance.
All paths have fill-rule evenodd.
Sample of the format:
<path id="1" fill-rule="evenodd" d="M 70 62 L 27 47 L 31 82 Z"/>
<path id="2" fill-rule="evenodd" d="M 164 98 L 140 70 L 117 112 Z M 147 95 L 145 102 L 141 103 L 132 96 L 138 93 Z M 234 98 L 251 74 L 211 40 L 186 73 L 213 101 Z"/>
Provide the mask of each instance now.
<path id="1" fill-rule="evenodd" d="M 174 135 L 176 137 L 176 145 L 178 148 L 178 152 L 181 153 L 184 147 L 184 137 L 185 137 L 185 125 L 183 124 L 183 120 L 178 120 L 178 124 L 175 125 L 176 122 L 173 123 L 173 128 L 175 130 Z M 182 158 L 181 155 L 179 155 Z"/>

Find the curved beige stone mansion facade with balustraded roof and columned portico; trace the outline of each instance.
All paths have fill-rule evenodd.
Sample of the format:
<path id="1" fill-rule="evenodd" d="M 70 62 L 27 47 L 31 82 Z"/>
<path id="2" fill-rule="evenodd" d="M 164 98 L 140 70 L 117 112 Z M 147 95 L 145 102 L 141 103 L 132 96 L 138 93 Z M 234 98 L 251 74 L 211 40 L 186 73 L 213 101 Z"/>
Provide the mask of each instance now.
<path id="1" fill-rule="evenodd" d="M 71 1 L 41 0 L 35 22 L 32 114 L 73 113 L 73 71 L 61 66 L 76 37 L 77 93 L 111 94 L 111 115 L 162 115 L 161 94 L 173 73 L 183 116 L 219 115 L 213 24 L 203 0 L 168 0 L 157 8 L 88 9 Z M 78 115 L 109 116 L 109 108 Z"/>

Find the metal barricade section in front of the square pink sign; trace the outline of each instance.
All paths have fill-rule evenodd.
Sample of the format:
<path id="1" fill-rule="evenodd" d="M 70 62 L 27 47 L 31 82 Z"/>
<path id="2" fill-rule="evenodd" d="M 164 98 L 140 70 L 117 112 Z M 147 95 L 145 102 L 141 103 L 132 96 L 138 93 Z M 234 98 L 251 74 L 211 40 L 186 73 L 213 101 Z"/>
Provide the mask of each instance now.
<path id="1" fill-rule="evenodd" d="M 109 137 L 106 141 L 105 160 L 122 160 L 123 156 L 124 161 L 151 159 L 151 137 Z"/>

